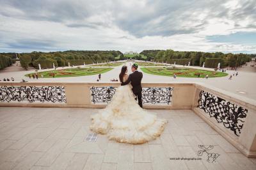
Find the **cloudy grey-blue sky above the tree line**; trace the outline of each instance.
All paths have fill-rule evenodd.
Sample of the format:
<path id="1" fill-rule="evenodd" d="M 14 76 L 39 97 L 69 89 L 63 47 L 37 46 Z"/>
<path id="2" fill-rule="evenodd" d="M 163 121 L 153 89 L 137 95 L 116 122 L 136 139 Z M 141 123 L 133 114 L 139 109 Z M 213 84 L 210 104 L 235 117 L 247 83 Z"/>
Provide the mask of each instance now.
<path id="1" fill-rule="evenodd" d="M 0 52 L 256 54 L 256 0 L 0 0 Z"/>

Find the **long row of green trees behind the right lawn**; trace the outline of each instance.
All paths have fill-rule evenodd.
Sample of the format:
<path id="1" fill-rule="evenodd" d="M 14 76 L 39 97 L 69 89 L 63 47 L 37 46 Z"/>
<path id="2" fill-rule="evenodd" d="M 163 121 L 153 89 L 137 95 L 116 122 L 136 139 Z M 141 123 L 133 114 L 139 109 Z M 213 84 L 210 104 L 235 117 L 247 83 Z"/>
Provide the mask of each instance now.
<path id="1" fill-rule="evenodd" d="M 222 52 L 194 52 L 194 51 L 174 51 L 174 50 L 143 50 L 140 54 L 144 54 L 148 58 L 157 62 L 176 63 L 178 65 L 192 65 L 216 68 L 218 63 L 221 67 L 230 66 L 237 67 L 251 61 L 256 54 L 224 54 Z M 152 59 L 152 56 L 154 56 Z"/>

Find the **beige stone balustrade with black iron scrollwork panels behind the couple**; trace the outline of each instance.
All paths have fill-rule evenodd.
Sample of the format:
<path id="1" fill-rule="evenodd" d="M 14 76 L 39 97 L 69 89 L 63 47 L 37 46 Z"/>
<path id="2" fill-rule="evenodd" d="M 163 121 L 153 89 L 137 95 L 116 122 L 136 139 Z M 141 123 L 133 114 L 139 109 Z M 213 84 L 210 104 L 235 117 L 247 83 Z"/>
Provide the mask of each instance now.
<path id="1" fill-rule="evenodd" d="M 104 108 L 118 86 L 118 82 L 0 82 L 0 106 Z M 256 100 L 192 82 L 142 86 L 145 109 L 192 109 L 244 155 L 256 157 Z"/>

